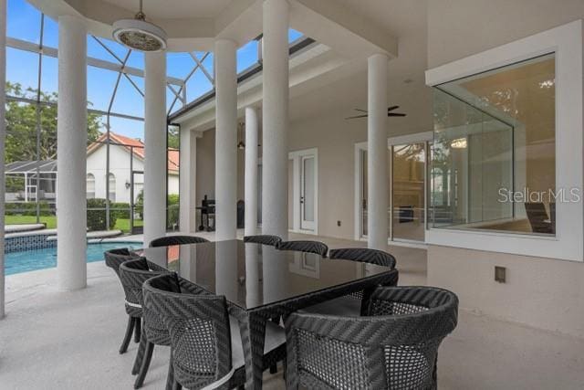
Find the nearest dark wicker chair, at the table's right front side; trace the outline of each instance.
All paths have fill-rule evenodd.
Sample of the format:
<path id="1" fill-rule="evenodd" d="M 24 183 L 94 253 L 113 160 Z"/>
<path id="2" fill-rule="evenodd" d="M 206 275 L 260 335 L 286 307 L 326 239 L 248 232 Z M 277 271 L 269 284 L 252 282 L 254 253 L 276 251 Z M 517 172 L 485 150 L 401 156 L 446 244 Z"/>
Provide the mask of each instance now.
<path id="1" fill-rule="evenodd" d="M 456 295 L 380 287 L 371 298 L 367 317 L 287 318 L 287 389 L 437 388 L 438 347 L 456 327 Z"/>

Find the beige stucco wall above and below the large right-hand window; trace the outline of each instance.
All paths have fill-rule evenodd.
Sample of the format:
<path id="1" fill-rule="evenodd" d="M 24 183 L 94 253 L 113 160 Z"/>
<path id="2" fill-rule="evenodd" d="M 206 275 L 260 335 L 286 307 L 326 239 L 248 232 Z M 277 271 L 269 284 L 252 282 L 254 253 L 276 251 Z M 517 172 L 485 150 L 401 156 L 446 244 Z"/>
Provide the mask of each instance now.
<path id="1" fill-rule="evenodd" d="M 581 0 L 428 2 L 429 68 L 584 18 Z M 495 265 L 507 282 L 494 280 Z M 462 308 L 584 337 L 584 264 L 430 246 L 428 283 L 454 290 Z"/>

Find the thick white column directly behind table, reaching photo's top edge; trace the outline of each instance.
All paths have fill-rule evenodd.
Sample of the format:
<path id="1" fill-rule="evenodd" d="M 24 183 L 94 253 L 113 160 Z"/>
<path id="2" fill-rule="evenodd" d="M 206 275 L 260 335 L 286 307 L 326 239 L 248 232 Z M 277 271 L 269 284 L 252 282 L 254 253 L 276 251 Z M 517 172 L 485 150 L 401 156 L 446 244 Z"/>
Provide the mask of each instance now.
<path id="1" fill-rule="evenodd" d="M 262 231 L 288 235 L 288 13 L 287 0 L 264 1 Z"/>

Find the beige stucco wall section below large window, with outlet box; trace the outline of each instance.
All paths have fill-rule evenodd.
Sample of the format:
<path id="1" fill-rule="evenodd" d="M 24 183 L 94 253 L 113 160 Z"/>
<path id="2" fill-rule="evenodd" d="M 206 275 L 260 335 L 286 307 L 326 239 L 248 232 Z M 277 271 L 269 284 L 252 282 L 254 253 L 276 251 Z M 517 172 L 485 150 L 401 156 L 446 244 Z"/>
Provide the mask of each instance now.
<path id="1" fill-rule="evenodd" d="M 506 267 L 506 283 L 495 266 Z M 431 245 L 428 284 L 453 290 L 461 308 L 584 337 L 581 263 Z"/>

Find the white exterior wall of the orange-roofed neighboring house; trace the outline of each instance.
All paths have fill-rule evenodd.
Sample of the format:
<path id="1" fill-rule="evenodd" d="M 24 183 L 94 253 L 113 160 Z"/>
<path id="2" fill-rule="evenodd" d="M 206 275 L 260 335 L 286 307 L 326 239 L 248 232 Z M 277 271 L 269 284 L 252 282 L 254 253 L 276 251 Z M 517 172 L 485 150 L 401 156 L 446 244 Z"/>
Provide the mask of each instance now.
<path id="1" fill-rule="evenodd" d="M 132 166 L 134 171 L 143 171 L 144 163 L 134 157 Z M 116 202 L 130 203 L 130 187 L 126 183 L 130 178 L 130 153 L 120 145 L 110 145 L 110 173 L 116 176 Z M 95 176 L 95 197 L 106 198 L 106 146 L 102 145 L 88 155 L 88 174 Z M 136 175 L 134 196 L 138 196 L 143 186 L 143 175 Z M 179 194 L 179 175 L 171 174 L 168 181 L 168 194 Z"/>

